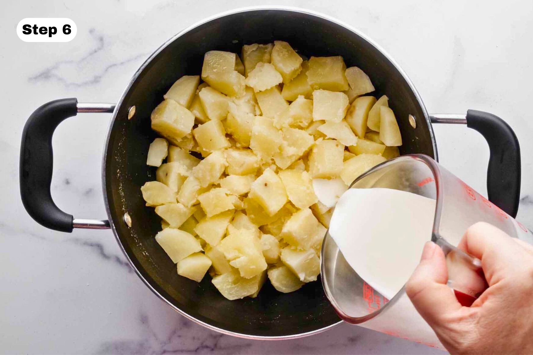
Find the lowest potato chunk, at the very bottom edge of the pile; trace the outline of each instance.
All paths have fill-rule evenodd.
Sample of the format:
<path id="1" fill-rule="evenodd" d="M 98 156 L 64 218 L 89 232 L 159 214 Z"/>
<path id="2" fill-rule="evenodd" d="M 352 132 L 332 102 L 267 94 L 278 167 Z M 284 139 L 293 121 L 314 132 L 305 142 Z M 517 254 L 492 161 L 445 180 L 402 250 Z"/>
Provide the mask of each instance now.
<path id="1" fill-rule="evenodd" d="M 252 278 L 244 278 L 239 271 L 231 270 L 229 273 L 213 277 L 211 282 L 216 289 L 228 300 L 238 300 L 254 294 L 259 289 L 262 274 Z"/>

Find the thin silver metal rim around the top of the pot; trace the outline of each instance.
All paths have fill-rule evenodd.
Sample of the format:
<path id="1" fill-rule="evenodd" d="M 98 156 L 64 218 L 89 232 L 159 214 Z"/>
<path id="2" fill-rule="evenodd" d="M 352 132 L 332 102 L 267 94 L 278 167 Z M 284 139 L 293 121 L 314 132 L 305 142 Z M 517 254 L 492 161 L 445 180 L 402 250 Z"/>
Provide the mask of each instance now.
<path id="1" fill-rule="evenodd" d="M 140 271 L 135 267 L 133 261 L 130 258 L 130 255 L 128 255 L 128 253 L 124 249 L 124 246 L 122 245 L 122 242 L 120 241 L 120 238 L 118 236 L 117 229 L 115 228 L 115 224 L 114 224 L 114 221 L 113 221 L 112 216 L 111 216 L 111 211 L 109 209 L 107 189 L 106 189 L 106 160 L 107 160 L 107 154 L 105 154 L 105 152 L 107 152 L 107 148 L 108 148 L 108 145 L 109 145 L 109 138 L 110 138 L 110 135 L 111 135 L 111 130 L 112 130 L 112 127 L 113 127 L 113 125 L 115 123 L 115 119 L 116 119 L 117 113 L 119 111 L 118 109 L 123 104 L 124 98 L 126 97 L 127 93 L 130 91 L 134 81 L 138 78 L 138 76 L 141 74 L 141 72 L 144 70 L 144 68 L 146 68 L 147 65 L 152 60 L 154 60 L 154 58 L 161 51 L 163 51 L 163 49 L 165 49 L 170 43 L 172 43 L 176 38 L 181 37 L 185 33 L 187 33 L 190 30 L 192 30 L 193 28 L 196 28 L 196 27 L 201 26 L 202 24 L 204 24 L 206 22 L 213 21 L 213 20 L 216 20 L 218 18 L 222 18 L 222 17 L 227 16 L 227 15 L 241 13 L 241 12 L 257 11 L 257 10 L 292 11 L 292 12 L 300 12 L 300 13 L 316 16 L 316 17 L 325 19 L 327 21 L 333 22 L 335 24 L 338 24 L 339 26 L 342 26 L 342 27 L 354 32 L 355 34 L 357 34 L 357 35 L 361 36 L 362 38 L 364 38 L 369 44 L 373 45 L 376 49 L 378 49 L 378 51 L 381 52 L 386 57 L 386 59 L 389 60 L 389 62 L 392 63 L 392 65 L 394 65 L 395 69 L 397 69 L 400 72 L 402 77 L 406 80 L 407 84 L 409 85 L 409 88 L 413 91 L 413 93 L 414 93 L 414 95 L 416 97 L 416 100 L 417 100 L 418 104 L 421 106 L 422 112 L 424 113 L 424 119 L 426 120 L 427 126 L 428 126 L 429 131 L 430 131 L 430 137 L 431 137 L 431 142 L 432 142 L 432 145 L 433 145 L 433 152 L 434 152 L 435 160 L 438 160 L 437 144 L 435 142 L 435 137 L 434 137 L 434 134 L 433 134 L 433 128 L 432 128 L 432 125 L 431 125 L 429 114 L 427 113 L 427 110 L 426 110 L 426 108 L 424 106 L 424 103 L 422 102 L 422 98 L 418 94 L 415 86 L 413 85 L 413 82 L 411 82 L 411 80 L 409 79 L 409 77 L 407 76 L 405 71 L 403 71 L 401 69 L 400 65 L 398 65 L 398 63 L 395 62 L 392 59 L 392 57 L 381 46 L 379 46 L 377 43 L 375 43 L 368 36 L 363 34 L 361 31 L 357 30 L 356 28 L 350 26 L 349 24 L 346 24 L 346 23 L 344 23 L 344 22 L 342 22 L 340 20 L 337 20 L 337 19 L 335 19 L 335 18 L 333 18 L 333 17 L 331 17 L 329 15 L 325 15 L 325 14 L 322 14 L 320 12 L 307 10 L 307 9 L 302 9 L 300 7 L 293 7 L 293 6 L 276 6 L 276 5 L 273 5 L 273 6 L 270 6 L 270 5 L 269 6 L 247 6 L 247 7 L 239 7 L 238 9 L 224 11 L 224 12 L 209 16 L 208 18 L 205 18 L 205 19 L 200 20 L 200 21 L 198 21 L 196 23 L 193 23 L 191 26 L 181 30 L 176 35 L 174 35 L 171 38 L 169 38 L 159 48 L 157 48 L 156 51 L 154 53 L 152 53 L 148 57 L 148 59 L 142 63 L 142 65 L 139 67 L 139 69 L 134 73 L 134 75 L 132 76 L 130 82 L 128 83 L 128 85 L 124 89 L 124 92 L 120 96 L 120 100 L 118 101 L 118 103 L 117 103 L 117 105 L 115 107 L 115 110 L 114 110 L 114 112 L 113 112 L 113 114 L 111 116 L 111 120 L 109 122 L 109 127 L 108 127 L 108 131 L 107 131 L 107 136 L 106 136 L 106 145 L 105 145 L 105 149 L 104 149 L 104 154 L 102 156 L 102 189 L 103 189 L 104 205 L 106 206 L 106 213 L 107 213 L 107 216 L 108 216 L 109 225 L 111 227 L 111 230 L 113 231 L 113 234 L 115 235 L 115 239 L 117 240 L 118 245 L 120 246 L 120 250 L 122 250 L 122 252 L 124 253 L 124 255 L 125 255 L 125 257 L 126 257 L 126 259 L 128 261 L 128 263 L 130 263 L 130 266 L 133 268 L 133 270 L 135 270 L 135 274 L 137 274 L 137 276 L 139 276 L 139 278 L 143 281 L 143 283 L 154 294 L 156 294 L 159 299 L 163 300 L 166 304 L 168 304 L 168 306 L 170 306 L 176 312 L 180 313 L 180 315 L 184 316 L 185 318 L 188 318 L 188 319 L 194 321 L 195 323 L 197 323 L 199 325 L 202 325 L 202 326 L 204 326 L 206 328 L 212 329 L 213 331 L 216 331 L 216 332 L 219 332 L 219 333 L 222 333 L 222 334 L 236 336 L 236 337 L 240 337 L 240 338 L 244 338 L 244 339 L 253 339 L 253 340 L 289 340 L 289 339 L 297 339 L 297 338 L 301 338 L 301 337 L 310 336 L 310 335 L 313 335 L 313 334 L 318 334 L 318 333 L 321 333 L 321 332 L 325 332 L 328 329 L 331 329 L 333 327 L 336 327 L 336 326 L 344 323 L 344 321 L 343 320 L 339 320 L 337 323 L 334 323 L 334 324 L 329 325 L 327 327 L 319 328 L 319 329 L 316 329 L 314 331 L 306 332 L 306 333 L 293 334 L 293 335 L 284 335 L 284 336 L 258 336 L 258 335 L 241 334 L 241 333 L 237 333 L 237 332 L 227 331 L 225 329 L 222 329 L 222 328 L 219 328 L 219 327 L 215 327 L 213 325 L 205 323 L 204 321 L 196 319 L 195 317 L 189 315 L 188 313 L 184 312 L 180 308 L 174 306 L 174 304 L 169 302 L 163 295 L 161 295 L 159 292 L 157 292 L 157 290 L 154 287 L 152 287 L 150 282 L 146 278 L 144 278 L 144 276 L 140 273 Z"/>

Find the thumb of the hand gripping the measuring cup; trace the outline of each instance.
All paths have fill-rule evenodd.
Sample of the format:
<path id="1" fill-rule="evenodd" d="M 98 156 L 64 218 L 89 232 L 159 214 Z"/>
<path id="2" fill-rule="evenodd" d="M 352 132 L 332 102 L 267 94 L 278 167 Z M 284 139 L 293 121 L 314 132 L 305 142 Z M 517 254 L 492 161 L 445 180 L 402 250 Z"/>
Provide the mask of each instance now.
<path id="1" fill-rule="evenodd" d="M 445 322 L 446 317 L 458 309 L 453 290 L 446 285 L 448 270 L 442 249 L 433 242 L 427 242 L 422 251 L 420 263 L 409 278 L 405 291 L 422 318 L 431 326 Z"/>

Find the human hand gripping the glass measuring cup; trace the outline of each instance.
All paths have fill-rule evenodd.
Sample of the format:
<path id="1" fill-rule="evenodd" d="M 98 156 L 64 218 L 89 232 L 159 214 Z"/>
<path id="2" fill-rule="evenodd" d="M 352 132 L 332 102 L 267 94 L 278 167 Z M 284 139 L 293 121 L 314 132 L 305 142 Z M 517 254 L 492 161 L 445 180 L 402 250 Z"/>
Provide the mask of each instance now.
<path id="1" fill-rule="evenodd" d="M 450 353 L 533 353 L 533 246 L 479 222 L 458 247 L 481 260 L 489 287 L 462 306 L 442 249 L 429 242 L 406 284 L 417 311 Z"/>

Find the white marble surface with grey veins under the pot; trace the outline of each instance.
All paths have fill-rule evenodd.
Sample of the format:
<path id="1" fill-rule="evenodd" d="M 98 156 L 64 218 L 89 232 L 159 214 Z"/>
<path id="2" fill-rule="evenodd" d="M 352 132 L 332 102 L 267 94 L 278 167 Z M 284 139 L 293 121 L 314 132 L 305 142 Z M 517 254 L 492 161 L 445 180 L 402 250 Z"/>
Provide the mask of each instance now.
<path id="1" fill-rule="evenodd" d="M 0 14 L 0 353 L 439 353 L 342 325 L 306 339 L 260 342 L 186 320 L 132 272 L 110 231 L 47 230 L 19 197 L 22 127 L 61 97 L 116 102 L 134 71 L 166 39 L 221 11 L 261 1 L 74 1 L 3 3 Z M 406 70 L 430 112 L 494 112 L 522 147 L 519 219 L 533 226 L 533 3 L 528 1 L 297 1 L 335 16 L 381 44 Z M 24 43 L 26 17 L 67 17 L 70 43 Z M 52 195 L 79 217 L 104 218 L 100 159 L 110 115 L 80 114 L 56 130 Z M 465 127 L 435 127 L 440 160 L 486 193 L 488 149 Z"/>

